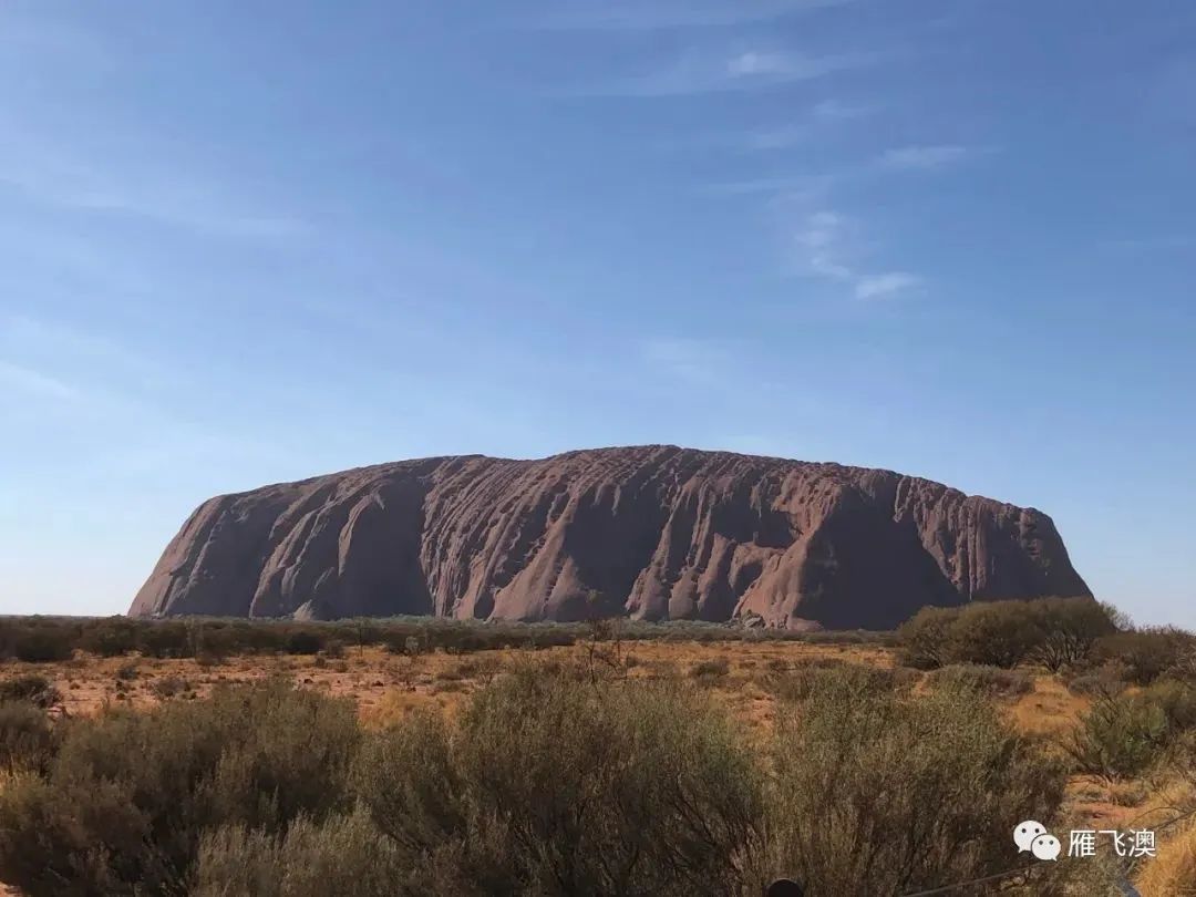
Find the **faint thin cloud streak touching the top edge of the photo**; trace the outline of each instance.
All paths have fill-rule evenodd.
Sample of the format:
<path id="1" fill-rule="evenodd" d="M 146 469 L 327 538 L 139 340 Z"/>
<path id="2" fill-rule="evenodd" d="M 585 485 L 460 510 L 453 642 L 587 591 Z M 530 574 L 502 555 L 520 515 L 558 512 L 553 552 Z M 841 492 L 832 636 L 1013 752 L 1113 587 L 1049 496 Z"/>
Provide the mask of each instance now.
<path id="1" fill-rule="evenodd" d="M 655 31 L 769 22 L 854 0 L 588 0 L 556 4 L 537 24 L 567 30 Z"/>

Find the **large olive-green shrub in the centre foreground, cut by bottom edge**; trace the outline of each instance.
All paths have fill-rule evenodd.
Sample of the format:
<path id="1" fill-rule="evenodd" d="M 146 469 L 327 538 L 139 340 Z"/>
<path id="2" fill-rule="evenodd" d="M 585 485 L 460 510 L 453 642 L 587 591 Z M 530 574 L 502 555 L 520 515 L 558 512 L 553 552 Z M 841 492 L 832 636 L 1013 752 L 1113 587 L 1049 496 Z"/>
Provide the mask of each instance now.
<path id="1" fill-rule="evenodd" d="M 359 793 L 413 895 L 732 893 L 762 814 L 751 755 L 691 689 L 526 670 L 457 725 L 378 736 Z"/>

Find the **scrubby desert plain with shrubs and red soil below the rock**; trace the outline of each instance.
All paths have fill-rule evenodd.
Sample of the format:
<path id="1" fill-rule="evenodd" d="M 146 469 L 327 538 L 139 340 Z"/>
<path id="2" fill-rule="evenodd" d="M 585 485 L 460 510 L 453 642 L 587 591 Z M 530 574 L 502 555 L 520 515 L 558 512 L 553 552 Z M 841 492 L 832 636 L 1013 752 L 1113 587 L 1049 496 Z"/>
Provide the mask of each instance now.
<path id="1" fill-rule="evenodd" d="M 1159 858 L 1064 856 L 995 879 L 1002 893 L 1099 896 L 1124 877 L 1171 897 L 1194 880 L 1191 828 L 1164 828 L 1196 810 L 1192 637 L 1121 631 L 1091 602 L 800 637 L 0 631 L 0 879 L 28 897 L 757 895 L 781 874 L 813 896 L 897 897 L 1018 867 L 1023 818 L 1148 818 Z"/>

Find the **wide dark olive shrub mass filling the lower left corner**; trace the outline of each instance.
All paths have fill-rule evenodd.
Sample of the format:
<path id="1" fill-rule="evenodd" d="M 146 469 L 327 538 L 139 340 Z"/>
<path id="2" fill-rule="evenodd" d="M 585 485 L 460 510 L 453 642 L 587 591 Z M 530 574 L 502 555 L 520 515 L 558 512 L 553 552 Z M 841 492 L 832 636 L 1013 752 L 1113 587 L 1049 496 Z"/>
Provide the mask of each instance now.
<path id="1" fill-rule="evenodd" d="M 282 683 L 68 727 L 44 777 L 0 792 L 0 879 L 29 897 L 184 893 L 205 830 L 276 834 L 343 807 L 349 704 Z"/>

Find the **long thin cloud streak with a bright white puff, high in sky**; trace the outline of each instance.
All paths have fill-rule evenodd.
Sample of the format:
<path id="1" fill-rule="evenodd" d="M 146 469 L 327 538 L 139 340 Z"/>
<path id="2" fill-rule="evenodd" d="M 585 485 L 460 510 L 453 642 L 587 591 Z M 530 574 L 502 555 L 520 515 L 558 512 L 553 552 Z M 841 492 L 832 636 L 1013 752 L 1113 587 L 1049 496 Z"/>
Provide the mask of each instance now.
<path id="1" fill-rule="evenodd" d="M 596 97 L 684 97 L 750 91 L 823 78 L 867 66 L 873 59 L 868 54 L 812 56 L 777 50 L 743 50 L 724 55 L 690 53 L 655 72 L 567 92 Z"/>

